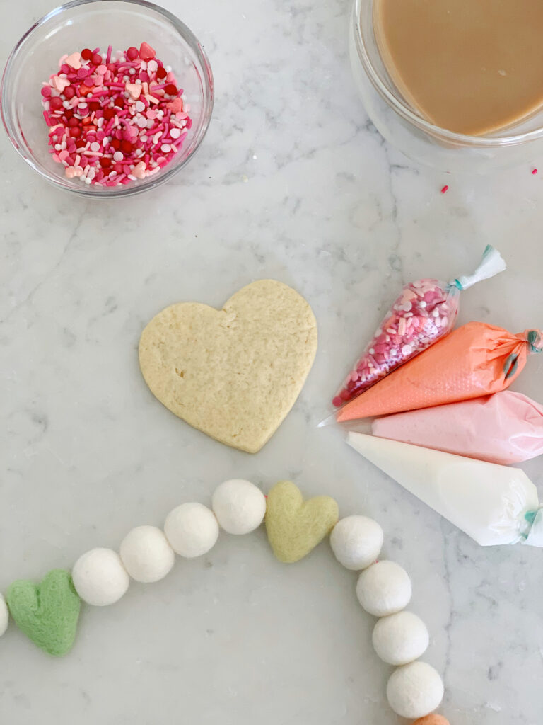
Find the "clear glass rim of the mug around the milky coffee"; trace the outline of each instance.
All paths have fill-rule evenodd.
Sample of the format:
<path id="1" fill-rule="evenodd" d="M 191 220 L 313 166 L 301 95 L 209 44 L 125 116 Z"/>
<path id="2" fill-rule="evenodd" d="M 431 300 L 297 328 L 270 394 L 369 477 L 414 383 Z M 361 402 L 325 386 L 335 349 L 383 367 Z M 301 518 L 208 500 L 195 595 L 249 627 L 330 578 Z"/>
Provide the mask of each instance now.
<path id="1" fill-rule="evenodd" d="M 374 64 L 371 62 L 369 52 L 366 48 L 366 42 L 364 41 L 362 35 L 360 21 L 362 4 L 367 1 L 370 1 L 373 4 L 375 0 L 355 0 L 353 3 L 353 14 L 351 16 L 351 20 L 353 23 L 358 58 L 361 61 L 363 70 L 366 72 L 366 75 L 376 91 L 380 96 L 382 96 L 382 99 L 387 102 L 392 110 L 403 117 L 404 120 L 426 133 L 429 133 L 431 136 L 437 136 L 442 138 L 444 141 L 450 141 L 452 144 L 459 144 L 463 146 L 497 148 L 500 146 L 524 144 L 526 141 L 536 141 L 536 139 L 543 137 L 543 125 L 535 130 L 526 131 L 524 133 L 514 133 L 504 136 L 470 136 L 466 133 L 455 133 L 454 131 L 447 130 L 446 128 L 441 128 L 441 126 L 434 125 L 430 121 L 427 121 L 413 112 L 413 109 L 411 109 L 408 104 L 390 92 L 387 86 L 382 82 L 381 76 L 379 75 L 379 72 L 377 72 Z"/>

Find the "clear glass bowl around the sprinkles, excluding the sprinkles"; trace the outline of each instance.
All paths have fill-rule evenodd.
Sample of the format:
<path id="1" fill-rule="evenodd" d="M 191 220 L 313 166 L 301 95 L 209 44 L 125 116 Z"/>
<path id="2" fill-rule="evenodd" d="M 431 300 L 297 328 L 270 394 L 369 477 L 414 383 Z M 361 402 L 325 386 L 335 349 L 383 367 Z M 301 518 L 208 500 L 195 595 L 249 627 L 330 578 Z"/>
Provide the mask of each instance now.
<path id="1" fill-rule="evenodd" d="M 109 44 L 127 49 L 146 41 L 156 57 L 171 65 L 190 104 L 192 128 L 180 151 L 159 173 L 126 186 L 84 184 L 64 175 L 49 152 L 41 84 L 58 68 L 59 58 L 83 48 Z M 193 33 L 172 13 L 143 0 L 75 0 L 51 10 L 20 39 L 4 69 L 1 116 L 9 140 L 47 181 L 98 198 L 139 194 L 172 178 L 203 141 L 213 110 L 214 85 L 206 53 Z"/>

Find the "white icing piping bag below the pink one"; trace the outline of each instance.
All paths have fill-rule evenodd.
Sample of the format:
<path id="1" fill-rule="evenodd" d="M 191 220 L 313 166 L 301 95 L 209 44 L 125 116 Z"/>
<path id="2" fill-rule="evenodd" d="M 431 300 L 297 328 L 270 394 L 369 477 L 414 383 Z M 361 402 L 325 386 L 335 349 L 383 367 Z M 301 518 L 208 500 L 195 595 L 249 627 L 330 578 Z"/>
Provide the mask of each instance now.
<path id="1" fill-rule="evenodd" d="M 481 546 L 543 547 L 543 508 L 520 468 L 361 433 L 347 442 Z"/>

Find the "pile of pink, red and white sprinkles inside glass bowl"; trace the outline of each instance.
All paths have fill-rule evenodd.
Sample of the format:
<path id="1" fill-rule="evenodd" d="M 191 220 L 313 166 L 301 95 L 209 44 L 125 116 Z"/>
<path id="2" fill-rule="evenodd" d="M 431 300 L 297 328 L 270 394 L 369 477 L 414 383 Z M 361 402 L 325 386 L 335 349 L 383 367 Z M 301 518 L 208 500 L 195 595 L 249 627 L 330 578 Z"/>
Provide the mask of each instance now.
<path id="1" fill-rule="evenodd" d="M 87 185 L 123 186 L 159 173 L 192 126 L 174 72 L 148 43 L 62 56 L 41 99 L 54 161 Z"/>

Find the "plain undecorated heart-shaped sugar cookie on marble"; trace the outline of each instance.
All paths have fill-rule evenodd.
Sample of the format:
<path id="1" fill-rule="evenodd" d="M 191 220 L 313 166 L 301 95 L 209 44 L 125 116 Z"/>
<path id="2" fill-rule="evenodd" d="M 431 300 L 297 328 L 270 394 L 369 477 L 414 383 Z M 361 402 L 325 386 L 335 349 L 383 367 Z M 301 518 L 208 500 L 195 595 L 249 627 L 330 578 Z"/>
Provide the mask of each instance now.
<path id="1" fill-rule="evenodd" d="M 317 345 L 308 303 L 281 282 L 253 282 L 222 310 L 182 302 L 143 330 L 153 395 L 194 428 L 256 453 L 294 405 Z"/>

